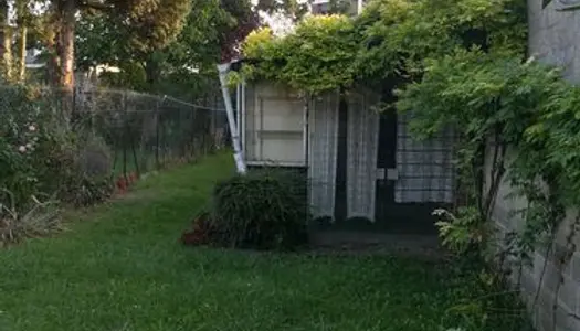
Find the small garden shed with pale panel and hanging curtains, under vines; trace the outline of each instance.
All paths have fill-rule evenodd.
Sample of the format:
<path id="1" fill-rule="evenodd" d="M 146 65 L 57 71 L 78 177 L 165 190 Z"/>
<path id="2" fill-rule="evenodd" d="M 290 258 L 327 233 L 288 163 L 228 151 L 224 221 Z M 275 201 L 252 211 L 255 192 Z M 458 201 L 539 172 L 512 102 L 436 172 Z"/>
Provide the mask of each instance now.
<path id="1" fill-rule="evenodd" d="M 303 171 L 320 224 L 431 231 L 433 209 L 454 202 L 452 132 L 413 139 L 409 115 L 378 110 L 379 93 L 358 87 L 306 102 L 259 81 L 239 84 L 236 96 L 246 164 Z"/>

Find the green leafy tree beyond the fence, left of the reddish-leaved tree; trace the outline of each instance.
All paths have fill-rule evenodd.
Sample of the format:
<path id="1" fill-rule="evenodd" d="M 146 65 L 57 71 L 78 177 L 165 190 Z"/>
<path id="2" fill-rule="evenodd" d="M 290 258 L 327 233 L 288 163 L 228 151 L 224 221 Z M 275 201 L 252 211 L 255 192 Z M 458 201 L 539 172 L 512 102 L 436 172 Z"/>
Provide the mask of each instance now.
<path id="1" fill-rule="evenodd" d="M 147 39 L 150 29 L 128 24 L 123 15 L 87 12 L 77 23 L 77 65 L 84 70 L 97 64 L 117 66 L 128 81 L 114 81 L 128 84 L 126 87 L 154 90 L 164 72 L 199 70 L 201 63 L 215 62 L 220 50 L 217 26 L 225 24 L 229 17 L 218 0 L 192 0 L 189 7 L 183 28 L 167 45 Z M 103 44 L 108 47 L 102 47 Z M 144 73 L 145 82 L 139 75 L 124 73 L 136 68 Z M 137 81 L 131 82 L 133 78 Z"/>

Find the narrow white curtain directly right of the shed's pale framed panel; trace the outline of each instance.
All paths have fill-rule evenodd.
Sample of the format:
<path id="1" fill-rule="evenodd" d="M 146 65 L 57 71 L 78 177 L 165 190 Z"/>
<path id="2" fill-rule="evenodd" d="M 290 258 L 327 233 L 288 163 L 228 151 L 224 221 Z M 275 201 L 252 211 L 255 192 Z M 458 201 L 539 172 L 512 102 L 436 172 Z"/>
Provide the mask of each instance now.
<path id="1" fill-rule="evenodd" d="M 309 128 L 309 201 L 314 217 L 335 213 L 336 166 L 338 149 L 338 93 L 316 97 L 310 104 Z"/>

